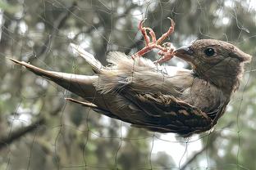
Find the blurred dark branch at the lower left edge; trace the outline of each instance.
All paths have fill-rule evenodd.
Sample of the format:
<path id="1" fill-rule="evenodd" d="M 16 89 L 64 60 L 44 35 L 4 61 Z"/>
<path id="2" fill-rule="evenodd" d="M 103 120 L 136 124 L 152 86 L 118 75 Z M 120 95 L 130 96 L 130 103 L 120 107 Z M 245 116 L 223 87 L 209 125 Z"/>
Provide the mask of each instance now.
<path id="1" fill-rule="evenodd" d="M 24 136 L 25 134 L 34 131 L 36 128 L 39 128 L 39 126 L 44 123 L 44 119 L 41 118 L 25 128 L 18 129 L 15 132 L 11 132 L 8 136 L 0 138 L 0 150 L 2 150 L 7 145 L 10 145 L 13 141 L 16 141 L 21 136 Z"/>

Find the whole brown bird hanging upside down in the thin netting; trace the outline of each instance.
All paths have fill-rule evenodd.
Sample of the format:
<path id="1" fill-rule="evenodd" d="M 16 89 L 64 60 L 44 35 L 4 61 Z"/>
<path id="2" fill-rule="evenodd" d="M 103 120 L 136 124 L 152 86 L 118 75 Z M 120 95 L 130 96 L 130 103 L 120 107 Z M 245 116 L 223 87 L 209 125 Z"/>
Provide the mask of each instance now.
<path id="1" fill-rule="evenodd" d="M 143 21 L 139 29 L 146 46 L 133 56 L 109 52 L 107 61 L 111 65 L 108 66 L 71 44 L 92 66 L 93 76 L 48 71 L 24 61 L 10 60 L 85 99 L 67 100 L 132 126 L 181 136 L 213 128 L 239 87 L 244 64 L 251 56 L 231 43 L 214 39 L 197 40 L 174 50 L 170 42 L 162 44 L 174 30 L 172 20 L 170 29 L 158 40 L 153 29 L 142 25 Z M 141 57 L 153 48 L 159 50 L 161 59 L 153 62 Z M 192 69 L 159 65 L 173 56 L 188 62 Z"/>

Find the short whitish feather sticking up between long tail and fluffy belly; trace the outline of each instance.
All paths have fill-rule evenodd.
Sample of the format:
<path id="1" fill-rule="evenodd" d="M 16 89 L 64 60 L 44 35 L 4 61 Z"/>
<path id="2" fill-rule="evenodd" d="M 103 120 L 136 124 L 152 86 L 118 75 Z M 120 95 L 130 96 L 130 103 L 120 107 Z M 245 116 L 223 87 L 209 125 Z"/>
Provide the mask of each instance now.
<path id="1" fill-rule="evenodd" d="M 93 69 L 96 73 L 101 72 L 101 70 L 103 69 L 103 65 L 98 60 L 96 60 L 92 54 L 85 51 L 80 46 L 75 45 L 74 43 L 71 43 L 71 47 L 79 56 L 83 57 L 86 60 L 86 62 L 88 62 L 89 65 L 91 65 L 93 67 Z"/>

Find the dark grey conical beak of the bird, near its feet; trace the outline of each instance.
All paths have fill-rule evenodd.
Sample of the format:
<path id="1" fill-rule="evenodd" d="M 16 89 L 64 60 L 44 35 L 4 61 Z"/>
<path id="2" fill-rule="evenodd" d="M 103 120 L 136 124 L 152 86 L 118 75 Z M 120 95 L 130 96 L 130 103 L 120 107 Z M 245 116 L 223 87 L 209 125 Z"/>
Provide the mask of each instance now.
<path id="1" fill-rule="evenodd" d="M 194 60 L 194 51 L 191 49 L 190 46 L 180 47 L 174 51 L 175 56 L 188 61 L 190 63 L 193 63 Z"/>

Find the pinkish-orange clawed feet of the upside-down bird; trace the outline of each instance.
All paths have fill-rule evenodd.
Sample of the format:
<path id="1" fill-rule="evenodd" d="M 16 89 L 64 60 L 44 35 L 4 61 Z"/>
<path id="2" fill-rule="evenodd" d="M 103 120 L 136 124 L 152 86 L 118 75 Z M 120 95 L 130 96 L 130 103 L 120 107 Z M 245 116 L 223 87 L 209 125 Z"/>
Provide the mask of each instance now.
<path id="1" fill-rule="evenodd" d="M 168 18 L 168 19 L 171 20 L 171 18 Z M 145 53 L 153 50 L 154 48 L 157 48 L 158 50 L 160 50 L 158 52 L 158 55 L 162 56 L 162 58 L 154 61 L 154 63 L 162 63 L 164 61 L 170 60 L 174 56 L 174 53 L 173 53 L 174 48 L 171 47 L 171 42 L 166 42 L 166 43 L 163 43 L 162 45 L 161 43 L 174 31 L 174 26 L 175 26 L 174 21 L 171 20 L 170 28 L 167 30 L 165 34 L 162 34 L 162 36 L 158 39 L 156 38 L 156 34 L 154 33 L 153 29 L 149 27 L 143 27 L 144 21 L 145 20 L 141 20 L 139 22 L 139 30 L 144 36 L 146 46 L 141 50 L 139 50 L 138 52 L 136 52 L 131 57 L 135 59 L 136 57 L 143 56 Z M 148 35 L 147 31 L 149 32 L 150 36 Z M 151 42 L 150 42 L 150 39 L 151 39 Z"/>

